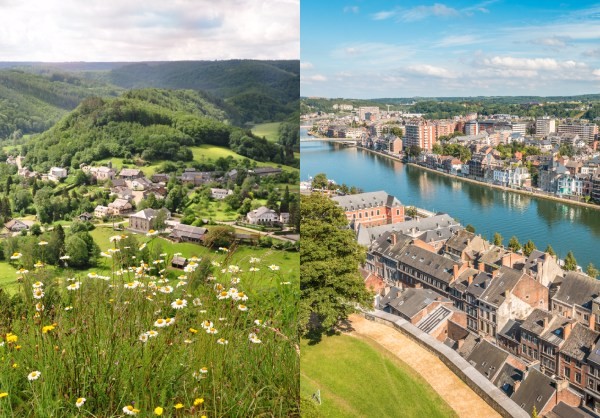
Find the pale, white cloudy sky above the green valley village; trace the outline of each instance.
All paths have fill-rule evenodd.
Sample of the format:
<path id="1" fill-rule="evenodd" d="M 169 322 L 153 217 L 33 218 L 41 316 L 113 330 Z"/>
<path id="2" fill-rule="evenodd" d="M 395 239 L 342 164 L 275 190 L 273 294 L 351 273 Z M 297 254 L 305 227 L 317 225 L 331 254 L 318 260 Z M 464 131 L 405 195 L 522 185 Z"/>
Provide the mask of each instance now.
<path id="1" fill-rule="evenodd" d="M 298 59 L 299 0 L 0 0 L 0 61 Z"/>

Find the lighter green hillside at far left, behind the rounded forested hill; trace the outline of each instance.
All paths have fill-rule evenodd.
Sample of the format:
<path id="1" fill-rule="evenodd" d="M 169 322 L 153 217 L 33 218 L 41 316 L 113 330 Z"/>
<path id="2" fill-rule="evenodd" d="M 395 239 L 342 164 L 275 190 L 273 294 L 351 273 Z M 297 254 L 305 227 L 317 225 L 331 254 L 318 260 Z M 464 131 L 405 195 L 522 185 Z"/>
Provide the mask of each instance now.
<path id="1" fill-rule="evenodd" d="M 115 86 L 67 75 L 0 71 L 0 139 L 42 132 L 86 97 L 116 96 Z"/>

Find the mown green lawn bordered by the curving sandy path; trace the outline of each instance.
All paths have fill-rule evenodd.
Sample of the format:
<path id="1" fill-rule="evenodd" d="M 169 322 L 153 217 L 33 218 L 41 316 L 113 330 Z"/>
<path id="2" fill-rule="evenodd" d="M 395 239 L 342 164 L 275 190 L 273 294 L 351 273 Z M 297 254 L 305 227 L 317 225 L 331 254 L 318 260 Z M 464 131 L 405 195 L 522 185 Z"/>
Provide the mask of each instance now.
<path id="1" fill-rule="evenodd" d="M 370 341 L 335 335 L 302 342 L 300 391 L 320 389 L 323 417 L 455 417 L 413 369 Z"/>

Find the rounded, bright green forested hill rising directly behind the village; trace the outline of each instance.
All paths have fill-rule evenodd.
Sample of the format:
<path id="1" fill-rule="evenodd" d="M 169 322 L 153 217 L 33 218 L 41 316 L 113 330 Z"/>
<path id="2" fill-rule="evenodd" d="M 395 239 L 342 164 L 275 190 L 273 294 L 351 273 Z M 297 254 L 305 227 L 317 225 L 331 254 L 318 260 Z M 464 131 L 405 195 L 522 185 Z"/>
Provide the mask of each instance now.
<path id="1" fill-rule="evenodd" d="M 40 171 L 109 157 L 191 161 L 189 147 L 204 143 L 229 147 L 258 161 L 294 163 L 293 149 L 256 138 L 225 118 L 222 109 L 192 90 L 132 90 L 118 98 L 84 99 L 21 151 L 25 164 Z"/>

